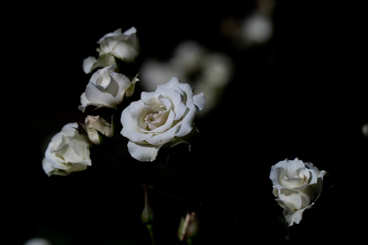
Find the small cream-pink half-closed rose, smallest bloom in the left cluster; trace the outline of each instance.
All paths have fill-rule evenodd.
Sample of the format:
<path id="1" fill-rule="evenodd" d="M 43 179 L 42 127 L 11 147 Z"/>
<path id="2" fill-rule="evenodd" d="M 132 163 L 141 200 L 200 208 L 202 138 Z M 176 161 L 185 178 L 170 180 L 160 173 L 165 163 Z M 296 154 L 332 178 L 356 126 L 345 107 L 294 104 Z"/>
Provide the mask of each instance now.
<path id="1" fill-rule="evenodd" d="M 87 116 L 84 124 L 87 127 L 88 138 L 96 145 L 100 143 L 97 130 L 107 137 L 113 136 L 111 124 L 100 116 Z"/>

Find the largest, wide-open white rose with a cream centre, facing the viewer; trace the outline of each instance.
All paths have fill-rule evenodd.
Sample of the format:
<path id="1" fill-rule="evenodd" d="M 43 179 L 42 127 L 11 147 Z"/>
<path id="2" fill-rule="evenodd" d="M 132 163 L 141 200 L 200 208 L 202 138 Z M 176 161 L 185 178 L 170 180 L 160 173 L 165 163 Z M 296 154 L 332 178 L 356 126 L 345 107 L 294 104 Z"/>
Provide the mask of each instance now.
<path id="1" fill-rule="evenodd" d="M 180 137 L 195 127 L 194 118 L 205 103 L 203 93 L 193 95 L 190 85 L 177 77 L 158 85 L 155 92 L 142 92 L 141 99 L 121 113 L 121 134 L 129 139 L 131 156 L 139 161 L 153 161 L 165 143 L 183 142 Z"/>

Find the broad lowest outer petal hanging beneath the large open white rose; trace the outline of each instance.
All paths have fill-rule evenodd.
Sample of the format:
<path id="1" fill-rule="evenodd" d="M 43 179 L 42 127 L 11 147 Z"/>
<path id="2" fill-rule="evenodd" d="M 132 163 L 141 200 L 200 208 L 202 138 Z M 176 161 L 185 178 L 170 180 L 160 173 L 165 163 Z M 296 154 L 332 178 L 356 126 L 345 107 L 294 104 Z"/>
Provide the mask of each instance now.
<path id="1" fill-rule="evenodd" d="M 135 143 L 131 140 L 128 142 L 128 151 L 130 155 L 139 161 L 152 162 L 156 159 L 157 153 L 161 147 L 162 145 L 153 146 L 149 144 Z"/>

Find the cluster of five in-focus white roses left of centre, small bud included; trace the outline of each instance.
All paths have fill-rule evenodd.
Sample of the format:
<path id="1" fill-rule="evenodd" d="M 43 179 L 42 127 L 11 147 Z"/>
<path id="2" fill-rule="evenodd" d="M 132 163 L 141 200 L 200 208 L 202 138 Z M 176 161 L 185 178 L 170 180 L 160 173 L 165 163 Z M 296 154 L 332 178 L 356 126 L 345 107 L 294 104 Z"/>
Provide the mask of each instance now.
<path id="1" fill-rule="evenodd" d="M 117 29 L 106 34 L 97 42 L 99 58 L 89 56 L 83 61 L 85 73 L 103 68 L 92 74 L 81 95 L 79 110 L 85 113 L 89 106 L 114 108 L 133 94 L 138 74 L 132 79 L 120 74 L 116 58 L 134 62 L 139 54 L 136 32 L 132 27 L 124 33 Z M 121 114 L 121 134 L 129 139 L 129 153 L 139 161 L 153 161 L 163 145 L 186 142 L 183 137 L 197 131 L 194 118 L 204 106 L 204 94 L 193 95 L 190 85 L 177 77 L 157 86 L 155 92 L 142 92 L 141 99 Z M 91 166 L 90 146 L 99 145 L 101 135 L 112 137 L 113 131 L 112 125 L 100 116 L 87 116 L 84 125 L 65 125 L 47 147 L 42 161 L 44 171 L 50 176 L 85 170 Z"/>

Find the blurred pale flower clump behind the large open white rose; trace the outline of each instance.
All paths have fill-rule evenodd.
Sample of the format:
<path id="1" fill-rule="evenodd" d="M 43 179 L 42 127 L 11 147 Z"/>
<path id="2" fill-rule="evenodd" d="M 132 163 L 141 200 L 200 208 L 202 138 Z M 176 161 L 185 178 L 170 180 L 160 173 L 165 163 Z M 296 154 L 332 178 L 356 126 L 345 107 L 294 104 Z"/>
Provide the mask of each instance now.
<path id="1" fill-rule="evenodd" d="M 152 92 L 163 81 L 173 76 L 180 77 L 196 92 L 206 95 L 206 110 L 200 114 L 203 116 L 216 107 L 232 74 L 233 63 L 229 56 L 207 50 L 195 41 L 184 41 L 178 44 L 173 57 L 167 62 L 145 61 L 139 85 L 143 90 Z"/>

